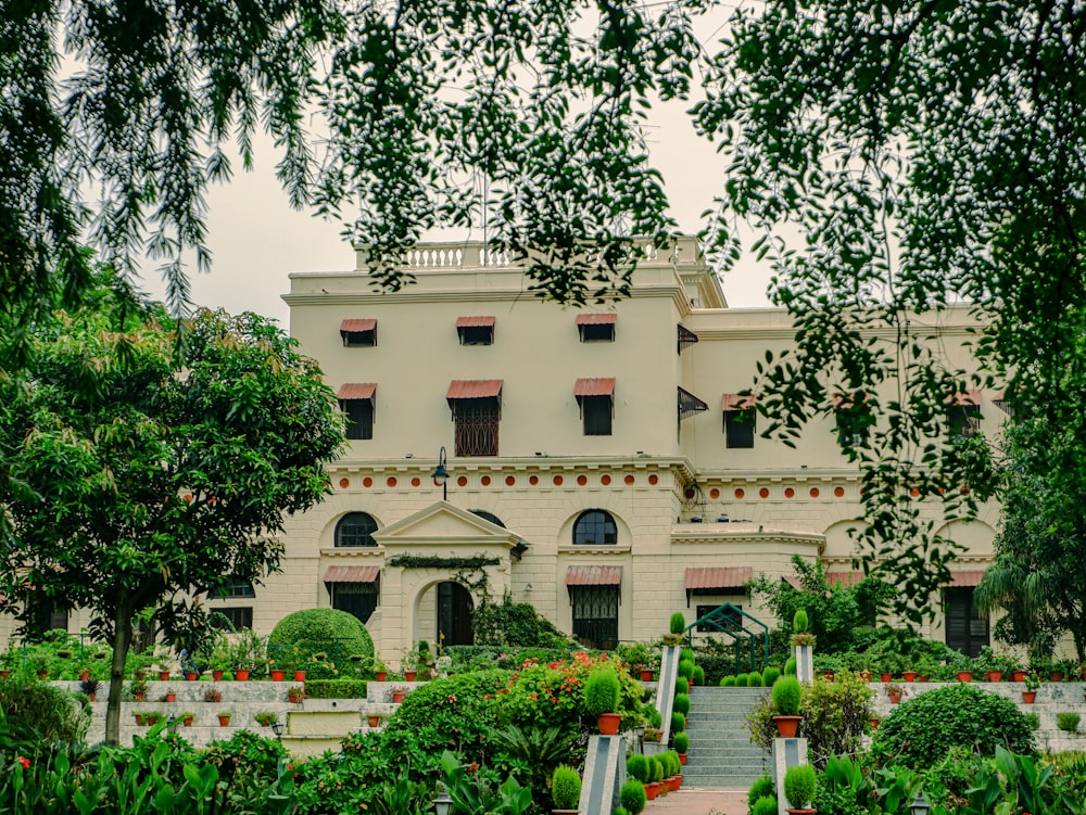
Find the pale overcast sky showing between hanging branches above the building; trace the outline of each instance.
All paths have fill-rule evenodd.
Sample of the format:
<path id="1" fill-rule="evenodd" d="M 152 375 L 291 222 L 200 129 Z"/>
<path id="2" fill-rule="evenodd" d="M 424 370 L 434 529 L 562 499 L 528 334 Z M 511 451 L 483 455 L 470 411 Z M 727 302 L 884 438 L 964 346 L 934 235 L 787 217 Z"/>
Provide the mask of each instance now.
<path id="1" fill-rule="evenodd" d="M 664 174 L 680 228 L 694 233 L 702 228 L 700 214 L 722 189 L 721 160 L 712 144 L 693 132 L 681 109 L 660 115 L 664 124 L 648 135 L 653 161 Z M 190 264 L 190 278 L 197 305 L 222 306 L 235 314 L 256 311 L 287 327 L 289 311 L 281 295 L 289 291 L 290 272 L 348 271 L 355 263 L 338 224 L 290 208 L 275 178 L 275 163 L 270 144 L 258 143 L 255 169 L 238 171 L 230 183 L 213 189 L 209 195 L 213 269 L 197 275 Z M 768 280 L 769 271 L 753 264 L 729 272 L 723 279 L 729 305 L 768 305 Z M 163 296 L 165 289 L 153 267 L 146 268 L 142 282 L 153 296 Z"/>

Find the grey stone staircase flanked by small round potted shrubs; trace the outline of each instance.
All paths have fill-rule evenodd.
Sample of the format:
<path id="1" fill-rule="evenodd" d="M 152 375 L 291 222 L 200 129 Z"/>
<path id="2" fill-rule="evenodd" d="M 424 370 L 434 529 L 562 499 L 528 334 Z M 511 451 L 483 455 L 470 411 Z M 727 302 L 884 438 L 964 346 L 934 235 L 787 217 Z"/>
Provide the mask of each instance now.
<path id="1" fill-rule="evenodd" d="M 747 714 L 767 692 L 768 688 L 693 688 L 684 787 L 748 789 L 770 772 L 769 753 L 750 741 L 746 728 Z"/>

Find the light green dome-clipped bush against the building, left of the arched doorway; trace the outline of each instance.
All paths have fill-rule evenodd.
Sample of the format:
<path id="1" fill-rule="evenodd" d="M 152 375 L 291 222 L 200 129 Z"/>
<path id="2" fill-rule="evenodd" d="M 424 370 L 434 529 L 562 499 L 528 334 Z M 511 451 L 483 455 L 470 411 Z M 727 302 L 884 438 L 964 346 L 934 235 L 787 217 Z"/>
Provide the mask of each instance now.
<path id="1" fill-rule="evenodd" d="M 325 659 L 314 659 L 325 654 Z M 268 659 L 307 678 L 338 678 L 340 663 L 361 657 L 368 664 L 374 640 L 356 616 L 337 609 L 304 609 L 280 620 L 268 637 Z"/>

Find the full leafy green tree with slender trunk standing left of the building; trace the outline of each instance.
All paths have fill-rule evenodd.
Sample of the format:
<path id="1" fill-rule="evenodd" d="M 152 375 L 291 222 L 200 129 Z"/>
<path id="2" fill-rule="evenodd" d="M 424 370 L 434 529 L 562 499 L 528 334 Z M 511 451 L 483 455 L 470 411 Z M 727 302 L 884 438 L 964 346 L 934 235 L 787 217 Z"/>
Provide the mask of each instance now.
<path id="1" fill-rule="evenodd" d="M 0 379 L 0 559 L 9 613 L 93 611 L 113 645 L 106 741 L 119 737 L 139 612 L 168 641 L 201 599 L 277 568 L 283 513 L 328 492 L 343 424 L 316 365 L 265 318 L 161 309 L 59 311 L 25 378 Z"/>

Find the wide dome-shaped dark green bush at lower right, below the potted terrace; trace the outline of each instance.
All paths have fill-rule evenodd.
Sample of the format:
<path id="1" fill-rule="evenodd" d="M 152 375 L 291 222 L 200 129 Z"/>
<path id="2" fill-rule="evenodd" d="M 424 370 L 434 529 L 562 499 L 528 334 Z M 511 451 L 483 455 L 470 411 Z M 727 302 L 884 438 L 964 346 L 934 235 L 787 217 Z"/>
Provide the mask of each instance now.
<path id="1" fill-rule="evenodd" d="M 871 750 L 899 764 L 930 767 L 955 744 L 973 744 L 982 755 L 994 755 L 996 744 L 1020 755 L 1036 753 L 1030 722 L 1013 702 L 964 683 L 896 705 Z"/>

